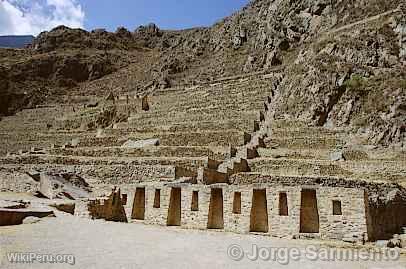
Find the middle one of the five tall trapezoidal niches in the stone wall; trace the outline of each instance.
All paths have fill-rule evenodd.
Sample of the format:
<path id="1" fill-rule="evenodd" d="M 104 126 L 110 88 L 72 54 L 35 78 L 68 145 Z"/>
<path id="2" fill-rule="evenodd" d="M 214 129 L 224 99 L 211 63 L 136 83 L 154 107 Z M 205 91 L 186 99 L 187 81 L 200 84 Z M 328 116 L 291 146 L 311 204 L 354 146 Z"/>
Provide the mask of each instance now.
<path id="1" fill-rule="evenodd" d="M 224 229 L 223 190 L 211 189 L 208 229 Z"/>

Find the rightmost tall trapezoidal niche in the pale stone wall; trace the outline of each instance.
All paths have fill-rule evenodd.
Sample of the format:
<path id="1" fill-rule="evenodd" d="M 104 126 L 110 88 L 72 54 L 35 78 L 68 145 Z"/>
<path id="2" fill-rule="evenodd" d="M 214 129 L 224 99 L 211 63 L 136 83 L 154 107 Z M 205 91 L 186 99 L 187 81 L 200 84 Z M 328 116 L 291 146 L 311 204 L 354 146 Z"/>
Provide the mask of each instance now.
<path id="1" fill-rule="evenodd" d="M 319 233 L 319 210 L 316 190 L 302 190 L 300 206 L 300 232 Z"/>

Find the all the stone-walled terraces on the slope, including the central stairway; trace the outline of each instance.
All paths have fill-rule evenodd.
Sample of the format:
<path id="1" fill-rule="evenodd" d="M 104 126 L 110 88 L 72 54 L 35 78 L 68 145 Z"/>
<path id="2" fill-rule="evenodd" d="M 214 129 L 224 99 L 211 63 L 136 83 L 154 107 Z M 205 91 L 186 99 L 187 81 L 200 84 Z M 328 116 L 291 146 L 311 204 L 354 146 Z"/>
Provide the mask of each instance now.
<path id="1" fill-rule="evenodd" d="M 101 131 L 57 128 L 56 118 L 81 126 L 78 115 L 94 111 L 83 104 L 24 110 L 0 121 L 0 176 L 13 173 L 26 182 L 31 170 L 75 172 L 100 190 L 183 178 L 229 183 L 235 174 L 253 173 L 405 184 L 404 153 L 349 145 L 354 137 L 347 129 L 275 119 L 272 101 L 281 78 L 257 74 L 156 91 L 149 97 L 150 111 L 141 110 L 140 99 L 119 98 L 115 105 L 129 111 L 128 121 Z M 159 146 L 122 147 L 129 139 L 151 138 Z M 72 141 L 75 146 L 62 147 Z M 331 160 L 337 151 L 345 160 Z"/>

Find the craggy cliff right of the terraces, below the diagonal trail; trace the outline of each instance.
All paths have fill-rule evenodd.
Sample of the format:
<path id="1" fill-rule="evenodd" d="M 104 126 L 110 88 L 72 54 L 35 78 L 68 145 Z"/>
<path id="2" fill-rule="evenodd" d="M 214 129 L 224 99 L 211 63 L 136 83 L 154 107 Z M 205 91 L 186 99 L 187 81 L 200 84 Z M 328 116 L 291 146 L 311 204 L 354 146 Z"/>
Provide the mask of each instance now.
<path id="1" fill-rule="evenodd" d="M 373 144 L 404 147 L 403 18 L 401 12 L 389 11 L 335 27 L 298 47 L 275 92 L 276 117 L 349 126 Z"/>

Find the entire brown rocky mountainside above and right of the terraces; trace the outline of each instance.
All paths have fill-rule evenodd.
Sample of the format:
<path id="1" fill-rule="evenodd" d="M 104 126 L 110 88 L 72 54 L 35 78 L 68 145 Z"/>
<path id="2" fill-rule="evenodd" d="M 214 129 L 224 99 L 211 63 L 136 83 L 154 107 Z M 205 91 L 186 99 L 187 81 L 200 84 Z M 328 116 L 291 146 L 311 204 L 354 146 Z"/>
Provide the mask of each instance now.
<path id="1" fill-rule="evenodd" d="M 276 118 L 350 127 L 375 144 L 405 146 L 403 18 L 397 0 L 255 0 L 209 28 L 58 27 L 30 49 L 0 51 L 0 114 L 62 96 L 142 94 L 283 69 Z"/>

